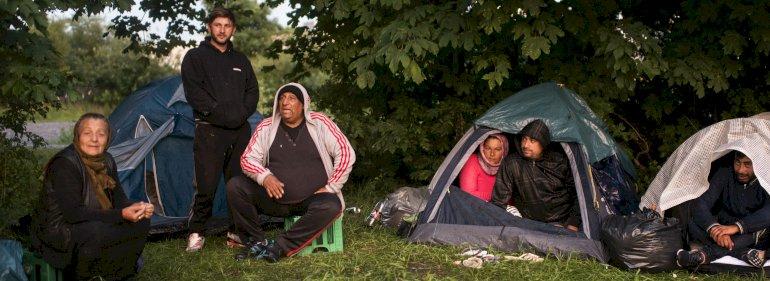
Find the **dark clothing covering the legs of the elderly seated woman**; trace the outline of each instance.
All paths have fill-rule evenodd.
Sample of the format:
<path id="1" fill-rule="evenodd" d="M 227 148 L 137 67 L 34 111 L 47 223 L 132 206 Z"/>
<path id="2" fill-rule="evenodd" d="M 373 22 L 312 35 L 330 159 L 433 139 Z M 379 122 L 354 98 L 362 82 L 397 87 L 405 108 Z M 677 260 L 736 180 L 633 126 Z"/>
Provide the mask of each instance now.
<path id="1" fill-rule="evenodd" d="M 136 260 L 142 254 L 150 220 L 111 224 L 89 221 L 72 226 L 73 256 L 65 269 L 67 280 L 123 280 L 136 273 Z"/>

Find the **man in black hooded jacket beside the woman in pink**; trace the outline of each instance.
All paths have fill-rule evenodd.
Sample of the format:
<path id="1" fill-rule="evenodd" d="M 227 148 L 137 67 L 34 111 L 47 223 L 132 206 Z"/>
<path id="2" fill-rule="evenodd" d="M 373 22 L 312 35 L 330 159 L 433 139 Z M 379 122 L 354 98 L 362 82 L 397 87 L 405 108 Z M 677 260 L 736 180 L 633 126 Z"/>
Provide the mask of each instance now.
<path id="1" fill-rule="evenodd" d="M 550 130 L 540 119 L 521 129 L 520 151 L 512 151 L 500 164 L 491 202 L 504 209 L 512 204 L 524 218 L 578 231 L 575 180 L 567 158 L 548 149 L 550 142 Z"/>

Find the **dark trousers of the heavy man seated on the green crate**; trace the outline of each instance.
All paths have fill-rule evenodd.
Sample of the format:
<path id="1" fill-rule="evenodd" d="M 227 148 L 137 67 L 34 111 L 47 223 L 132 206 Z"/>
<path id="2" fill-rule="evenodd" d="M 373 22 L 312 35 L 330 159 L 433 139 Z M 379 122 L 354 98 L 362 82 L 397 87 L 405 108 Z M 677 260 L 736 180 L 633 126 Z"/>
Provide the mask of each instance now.
<path id="1" fill-rule="evenodd" d="M 342 203 L 334 193 L 317 193 L 299 203 L 281 204 L 270 198 L 264 187 L 246 176 L 234 177 L 227 182 L 227 200 L 235 231 L 242 240 L 265 239 L 260 214 L 302 216 L 275 239 L 286 256 L 292 256 L 309 245 L 342 213 Z"/>

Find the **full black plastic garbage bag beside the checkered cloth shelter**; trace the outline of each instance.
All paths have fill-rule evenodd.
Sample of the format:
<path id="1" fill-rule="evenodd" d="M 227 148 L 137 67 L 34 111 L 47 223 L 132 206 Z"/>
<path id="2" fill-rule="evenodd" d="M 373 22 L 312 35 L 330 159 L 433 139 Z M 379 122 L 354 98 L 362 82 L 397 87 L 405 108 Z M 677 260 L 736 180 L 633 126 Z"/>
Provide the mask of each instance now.
<path id="1" fill-rule="evenodd" d="M 675 218 L 661 218 L 645 208 L 641 213 L 610 215 L 602 221 L 601 239 L 610 264 L 623 269 L 662 272 L 676 269 L 682 248 L 682 227 Z"/>

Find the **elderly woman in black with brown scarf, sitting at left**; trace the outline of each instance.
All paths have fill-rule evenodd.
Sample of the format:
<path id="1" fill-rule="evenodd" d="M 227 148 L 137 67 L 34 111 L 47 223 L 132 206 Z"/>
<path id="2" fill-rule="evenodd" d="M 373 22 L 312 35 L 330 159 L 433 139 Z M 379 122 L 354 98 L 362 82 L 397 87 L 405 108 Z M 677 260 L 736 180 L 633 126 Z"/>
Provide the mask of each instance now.
<path id="1" fill-rule="evenodd" d="M 86 113 L 73 144 L 45 166 L 32 229 L 33 247 L 66 279 L 126 279 L 137 272 L 154 207 L 128 202 L 106 153 L 110 127 L 104 115 Z"/>

